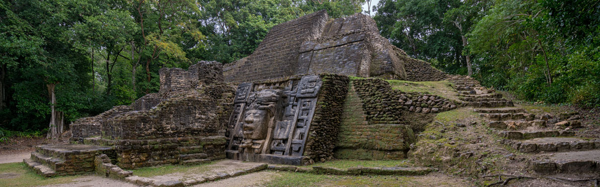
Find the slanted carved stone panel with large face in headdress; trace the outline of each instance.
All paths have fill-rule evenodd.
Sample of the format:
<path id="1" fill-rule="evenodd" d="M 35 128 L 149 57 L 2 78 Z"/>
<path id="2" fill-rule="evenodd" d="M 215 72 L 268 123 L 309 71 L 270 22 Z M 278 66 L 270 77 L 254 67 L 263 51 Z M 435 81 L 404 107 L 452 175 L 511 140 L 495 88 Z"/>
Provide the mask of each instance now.
<path id="1" fill-rule="evenodd" d="M 229 122 L 227 157 L 267 163 L 302 160 L 321 84 L 319 75 L 276 84 L 240 84 Z"/>

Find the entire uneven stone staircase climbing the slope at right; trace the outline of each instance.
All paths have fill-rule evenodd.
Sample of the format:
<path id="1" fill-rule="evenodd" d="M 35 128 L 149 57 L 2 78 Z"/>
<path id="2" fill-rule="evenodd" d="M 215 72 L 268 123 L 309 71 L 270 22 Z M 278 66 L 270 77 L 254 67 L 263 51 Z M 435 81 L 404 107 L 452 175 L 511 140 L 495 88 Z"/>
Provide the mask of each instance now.
<path id="1" fill-rule="evenodd" d="M 512 107 L 502 94 L 479 85 L 468 76 L 452 76 L 460 100 L 467 102 L 487 125 L 502 137 L 502 143 L 524 154 L 529 168 L 539 174 L 600 172 L 600 140 L 576 137 L 572 128 L 581 125 L 578 116 L 536 116 Z M 482 108 L 505 107 L 505 108 Z M 558 120 L 560 119 L 560 120 Z"/>

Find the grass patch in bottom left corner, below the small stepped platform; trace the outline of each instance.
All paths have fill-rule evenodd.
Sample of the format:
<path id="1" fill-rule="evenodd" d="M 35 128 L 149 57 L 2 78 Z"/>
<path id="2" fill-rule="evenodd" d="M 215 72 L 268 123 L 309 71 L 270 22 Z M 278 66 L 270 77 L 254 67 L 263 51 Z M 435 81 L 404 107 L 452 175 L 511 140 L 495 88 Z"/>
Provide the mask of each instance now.
<path id="1" fill-rule="evenodd" d="M 0 186 L 44 186 L 74 182 L 79 176 L 58 176 L 44 178 L 29 170 L 24 163 L 0 164 L 0 174 L 12 173 L 16 177 L 0 179 Z"/>

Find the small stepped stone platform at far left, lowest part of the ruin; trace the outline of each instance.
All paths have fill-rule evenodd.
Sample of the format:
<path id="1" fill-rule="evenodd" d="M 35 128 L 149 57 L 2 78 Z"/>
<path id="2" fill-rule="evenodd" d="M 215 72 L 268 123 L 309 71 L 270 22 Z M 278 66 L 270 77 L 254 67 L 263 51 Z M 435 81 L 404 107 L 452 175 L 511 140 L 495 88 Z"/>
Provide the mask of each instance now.
<path id="1" fill-rule="evenodd" d="M 116 157 L 112 148 L 106 146 L 41 145 L 23 162 L 44 177 L 85 174 L 94 172 L 94 158 L 99 154 Z"/>

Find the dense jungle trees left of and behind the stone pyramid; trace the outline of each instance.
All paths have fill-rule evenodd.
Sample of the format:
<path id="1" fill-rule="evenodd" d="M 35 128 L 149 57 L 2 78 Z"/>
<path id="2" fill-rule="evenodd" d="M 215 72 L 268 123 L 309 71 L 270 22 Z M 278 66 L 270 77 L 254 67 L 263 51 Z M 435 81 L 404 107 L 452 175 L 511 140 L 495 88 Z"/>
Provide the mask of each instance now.
<path id="1" fill-rule="evenodd" d="M 362 2 L 0 0 L 2 137 L 129 105 L 158 91 L 160 68 L 230 63 L 276 24 L 322 9 L 359 13 Z"/>

